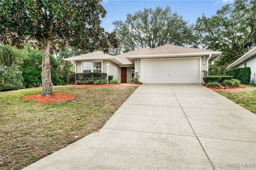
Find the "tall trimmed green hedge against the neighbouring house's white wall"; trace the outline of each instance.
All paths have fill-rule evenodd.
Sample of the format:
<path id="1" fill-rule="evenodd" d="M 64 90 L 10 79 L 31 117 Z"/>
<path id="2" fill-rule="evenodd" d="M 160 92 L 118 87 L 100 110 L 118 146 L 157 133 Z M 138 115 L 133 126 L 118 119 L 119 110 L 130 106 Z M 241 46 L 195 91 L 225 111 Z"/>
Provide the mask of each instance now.
<path id="1" fill-rule="evenodd" d="M 233 79 L 240 80 L 242 84 L 250 84 L 251 69 L 250 67 L 229 69 L 226 71 L 226 75 L 232 75 Z"/>

